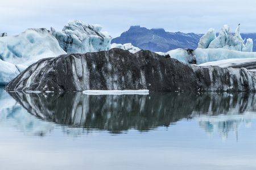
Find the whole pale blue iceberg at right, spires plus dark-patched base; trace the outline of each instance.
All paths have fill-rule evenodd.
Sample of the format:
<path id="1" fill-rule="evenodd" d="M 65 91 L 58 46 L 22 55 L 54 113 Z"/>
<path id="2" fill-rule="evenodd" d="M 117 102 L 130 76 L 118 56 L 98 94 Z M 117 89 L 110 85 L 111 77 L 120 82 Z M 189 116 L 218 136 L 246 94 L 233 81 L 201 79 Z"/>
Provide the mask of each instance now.
<path id="1" fill-rule="evenodd" d="M 246 44 L 240 35 L 240 25 L 236 33 L 232 35 L 228 25 L 224 25 L 219 35 L 216 37 L 216 31 L 210 28 L 199 41 L 197 49 L 175 49 L 169 52 L 158 54 L 162 56 L 170 55 L 181 62 L 200 65 L 206 62 L 218 61 L 230 58 L 256 58 L 253 51 L 253 40 L 247 39 Z"/>

